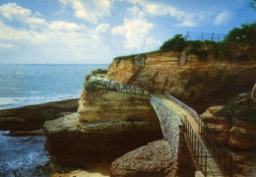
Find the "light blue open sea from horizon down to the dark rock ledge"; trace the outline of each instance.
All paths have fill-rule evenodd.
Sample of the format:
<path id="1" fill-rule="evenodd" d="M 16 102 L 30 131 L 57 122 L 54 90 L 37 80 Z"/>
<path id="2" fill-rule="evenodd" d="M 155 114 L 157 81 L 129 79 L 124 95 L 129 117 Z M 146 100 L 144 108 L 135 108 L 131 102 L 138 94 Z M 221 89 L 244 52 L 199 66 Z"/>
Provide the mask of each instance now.
<path id="1" fill-rule="evenodd" d="M 0 110 L 78 98 L 85 75 L 108 65 L 0 65 Z"/>

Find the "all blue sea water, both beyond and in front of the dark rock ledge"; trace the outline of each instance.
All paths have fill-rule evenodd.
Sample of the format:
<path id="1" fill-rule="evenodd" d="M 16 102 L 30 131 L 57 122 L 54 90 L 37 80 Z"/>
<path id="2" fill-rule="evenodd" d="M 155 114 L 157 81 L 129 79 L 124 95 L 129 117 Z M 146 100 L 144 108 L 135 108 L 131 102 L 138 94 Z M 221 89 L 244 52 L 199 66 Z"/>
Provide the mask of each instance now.
<path id="1" fill-rule="evenodd" d="M 0 65 L 0 110 L 79 98 L 85 76 L 98 65 Z M 48 176 L 45 137 L 11 137 L 0 131 L 0 177 Z"/>

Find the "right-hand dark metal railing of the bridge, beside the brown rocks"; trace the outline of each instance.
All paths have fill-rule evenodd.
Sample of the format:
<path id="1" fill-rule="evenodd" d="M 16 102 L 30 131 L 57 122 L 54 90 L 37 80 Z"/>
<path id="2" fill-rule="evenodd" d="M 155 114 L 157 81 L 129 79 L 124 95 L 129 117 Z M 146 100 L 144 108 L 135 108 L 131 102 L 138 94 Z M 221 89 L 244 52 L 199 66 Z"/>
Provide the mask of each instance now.
<path id="1" fill-rule="evenodd" d="M 209 149 L 213 157 L 216 159 L 216 162 L 221 167 L 225 175 L 232 176 L 232 154 L 227 148 L 220 142 L 218 137 L 214 132 L 203 122 L 201 122 L 201 135 L 206 144 L 206 147 Z"/>

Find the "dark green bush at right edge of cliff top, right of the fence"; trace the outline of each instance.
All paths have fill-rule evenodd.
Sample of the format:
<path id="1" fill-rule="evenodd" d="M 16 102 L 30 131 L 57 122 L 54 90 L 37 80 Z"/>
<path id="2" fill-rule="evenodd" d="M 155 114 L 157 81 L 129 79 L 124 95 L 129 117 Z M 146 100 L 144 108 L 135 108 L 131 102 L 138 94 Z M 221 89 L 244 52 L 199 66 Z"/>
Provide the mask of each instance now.
<path id="1" fill-rule="evenodd" d="M 256 23 L 242 24 L 241 28 L 231 29 L 225 36 L 224 42 L 243 42 L 255 45 Z"/>

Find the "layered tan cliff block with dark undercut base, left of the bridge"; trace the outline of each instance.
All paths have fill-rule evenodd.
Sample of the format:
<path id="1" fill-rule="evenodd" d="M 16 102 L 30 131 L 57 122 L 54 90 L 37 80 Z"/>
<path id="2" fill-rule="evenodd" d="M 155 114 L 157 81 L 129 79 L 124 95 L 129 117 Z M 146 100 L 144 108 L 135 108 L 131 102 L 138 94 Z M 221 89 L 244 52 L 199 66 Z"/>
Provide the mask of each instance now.
<path id="1" fill-rule="evenodd" d="M 45 147 L 57 161 L 79 166 L 111 161 L 162 139 L 150 95 L 140 89 L 134 89 L 135 94 L 113 90 L 112 85 L 106 87 L 104 76 L 87 76 L 77 114 L 44 123 Z"/>

